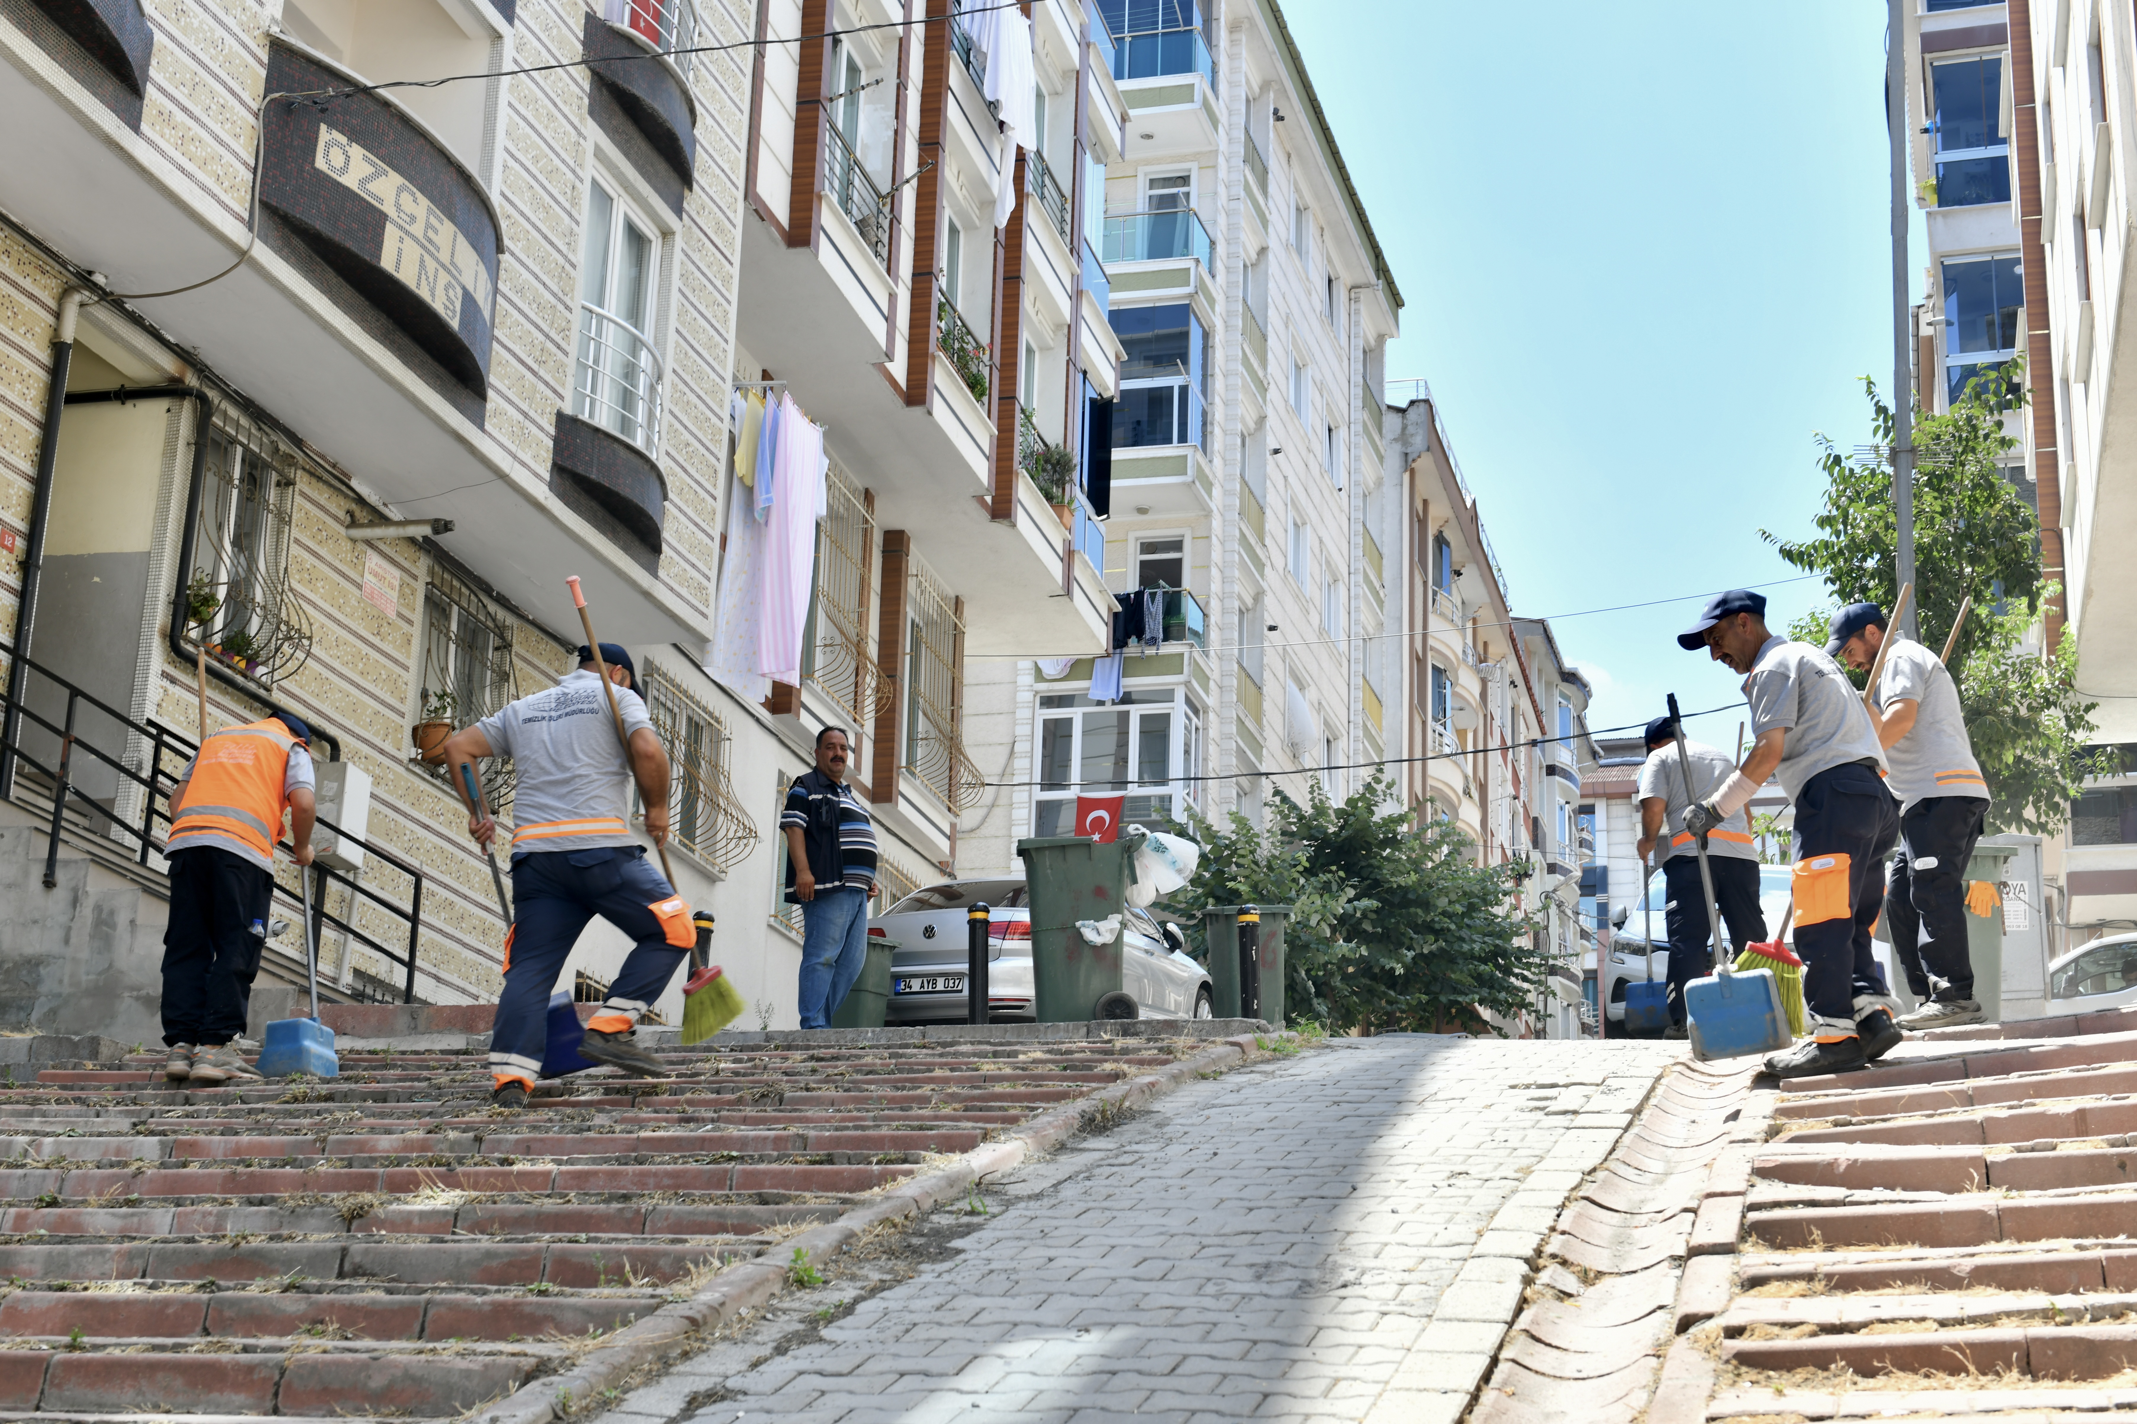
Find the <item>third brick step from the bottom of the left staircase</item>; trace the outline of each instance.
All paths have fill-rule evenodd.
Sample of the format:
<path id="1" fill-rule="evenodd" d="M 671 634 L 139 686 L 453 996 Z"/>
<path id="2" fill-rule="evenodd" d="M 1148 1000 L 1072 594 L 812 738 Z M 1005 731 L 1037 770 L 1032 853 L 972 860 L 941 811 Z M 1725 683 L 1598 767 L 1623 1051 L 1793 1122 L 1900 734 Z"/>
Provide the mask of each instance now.
<path id="1" fill-rule="evenodd" d="M 474 1243 L 474 1240 L 126 1240 L 105 1245 L 0 1245 L 9 1281 L 404 1281 L 410 1285 L 665 1285 L 699 1268 L 754 1257 L 769 1238 L 695 1243 Z"/>

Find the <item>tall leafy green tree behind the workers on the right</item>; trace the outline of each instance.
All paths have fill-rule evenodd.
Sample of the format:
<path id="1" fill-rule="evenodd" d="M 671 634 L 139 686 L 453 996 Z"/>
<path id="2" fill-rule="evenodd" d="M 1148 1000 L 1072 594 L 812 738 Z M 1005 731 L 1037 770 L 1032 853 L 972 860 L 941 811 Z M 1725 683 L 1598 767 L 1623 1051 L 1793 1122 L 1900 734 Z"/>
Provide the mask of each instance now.
<path id="1" fill-rule="evenodd" d="M 1874 453 L 1842 453 L 1819 436 L 1825 504 L 1816 536 L 1759 534 L 1789 564 L 1825 576 L 1836 604 L 1874 602 L 1887 613 L 1898 587 L 1898 515 L 1891 497 L 1893 412 L 1866 376 Z M 2017 448 L 2002 416 L 2024 404 L 2017 361 L 1977 376 L 1947 414 L 1915 414 L 1915 608 L 1921 640 L 1943 649 L 1966 598 L 1972 613 L 1951 651 L 1966 730 L 1990 784 L 1990 833 L 2056 835 L 2071 798 L 2092 775 L 2092 709 L 2077 694 L 2077 653 L 2028 645 L 2028 630 L 2056 594 L 2041 576 L 2032 508 L 2000 457 Z M 1825 645 L 1831 606 L 1795 623 L 1791 636 Z M 1861 685 L 1861 675 L 1851 675 Z"/>

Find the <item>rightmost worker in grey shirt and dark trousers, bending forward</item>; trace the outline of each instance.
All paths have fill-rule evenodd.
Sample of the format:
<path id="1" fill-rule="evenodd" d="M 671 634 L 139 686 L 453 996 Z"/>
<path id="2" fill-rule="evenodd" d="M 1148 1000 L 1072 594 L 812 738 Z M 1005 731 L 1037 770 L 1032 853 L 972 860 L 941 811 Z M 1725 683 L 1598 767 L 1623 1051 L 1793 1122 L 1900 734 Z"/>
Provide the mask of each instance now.
<path id="1" fill-rule="evenodd" d="M 1885 929 L 1921 1008 L 1902 1029 L 1981 1023 L 1975 965 L 1966 952 L 1966 863 L 1990 811 L 1960 690 L 1943 660 L 1913 638 L 1885 632 L 1885 611 L 1849 604 L 1834 615 L 1825 651 L 1857 673 L 1885 649 L 1885 670 L 1870 700 L 1885 745 L 1885 781 L 1900 798 L 1900 850 L 1891 858 Z"/>

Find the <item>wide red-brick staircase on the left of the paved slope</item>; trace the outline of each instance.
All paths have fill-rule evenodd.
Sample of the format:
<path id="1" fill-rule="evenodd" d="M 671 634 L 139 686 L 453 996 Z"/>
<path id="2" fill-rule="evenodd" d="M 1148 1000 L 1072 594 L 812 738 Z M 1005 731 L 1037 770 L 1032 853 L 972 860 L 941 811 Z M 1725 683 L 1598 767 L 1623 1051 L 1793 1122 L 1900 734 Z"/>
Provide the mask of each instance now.
<path id="1" fill-rule="evenodd" d="M 485 1012 L 327 1016 L 438 1042 Z M 167 1087 L 160 1055 L 15 1072 L 0 1415 L 459 1415 L 932 1155 L 1186 1053 L 825 1038 L 669 1048 L 665 1078 L 598 1070 L 517 1112 L 487 1106 L 474 1048 L 350 1048 L 338 1080 L 205 1091 Z"/>

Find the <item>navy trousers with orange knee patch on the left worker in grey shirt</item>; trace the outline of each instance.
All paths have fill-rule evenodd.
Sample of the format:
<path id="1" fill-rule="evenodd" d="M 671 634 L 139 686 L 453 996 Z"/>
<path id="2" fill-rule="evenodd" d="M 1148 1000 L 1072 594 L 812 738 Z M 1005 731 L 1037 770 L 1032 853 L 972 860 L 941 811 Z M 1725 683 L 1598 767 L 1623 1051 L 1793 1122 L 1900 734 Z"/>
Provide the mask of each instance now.
<path id="1" fill-rule="evenodd" d="M 690 950 L 669 944 L 656 903 L 675 890 L 645 863 L 643 845 L 547 850 L 513 856 L 513 935 L 504 946 L 504 993 L 489 1031 L 489 1072 L 534 1082 L 549 1046 L 549 991 L 579 931 L 596 914 L 637 944 L 609 984 L 603 1014 L 637 1023 Z M 690 912 L 684 909 L 688 922 Z"/>

